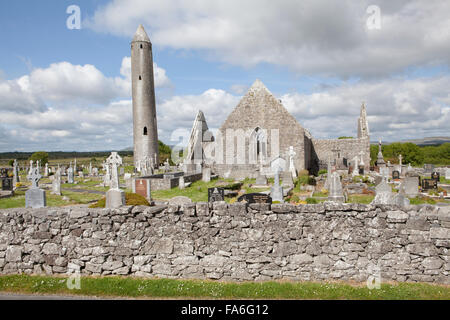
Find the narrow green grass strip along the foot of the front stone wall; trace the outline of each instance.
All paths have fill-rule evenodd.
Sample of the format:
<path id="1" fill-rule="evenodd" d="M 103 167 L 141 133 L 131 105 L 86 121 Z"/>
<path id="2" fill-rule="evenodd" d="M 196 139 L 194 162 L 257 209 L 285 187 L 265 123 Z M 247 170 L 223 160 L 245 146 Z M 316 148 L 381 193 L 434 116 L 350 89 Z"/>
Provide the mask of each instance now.
<path id="1" fill-rule="evenodd" d="M 82 277 L 80 290 L 69 290 L 65 277 L 0 276 L 0 292 L 70 294 L 142 298 L 213 299 L 450 299 L 450 287 L 423 283 L 365 284 L 343 282 L 215 282 L 200 280 L 142 279 L 133 277 Z"/>

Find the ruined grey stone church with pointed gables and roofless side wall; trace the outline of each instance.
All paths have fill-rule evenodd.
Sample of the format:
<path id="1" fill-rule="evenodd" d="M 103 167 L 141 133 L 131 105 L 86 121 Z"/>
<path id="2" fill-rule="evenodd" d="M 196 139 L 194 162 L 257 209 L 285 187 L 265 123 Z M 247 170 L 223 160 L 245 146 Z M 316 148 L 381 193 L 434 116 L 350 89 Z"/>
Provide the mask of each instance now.
<path id="1" fill-rule="evenodd" d="M 222 177 L 271 176 L 276 168 L 316 173 L 327 162 L 345 169 L 370 164 L 369 125 L 361 106 L 357 138 L 314 139 L 260 80 L 256 80 L 215 136 L 199 111 L 185 165 L 209 166 Z"/>

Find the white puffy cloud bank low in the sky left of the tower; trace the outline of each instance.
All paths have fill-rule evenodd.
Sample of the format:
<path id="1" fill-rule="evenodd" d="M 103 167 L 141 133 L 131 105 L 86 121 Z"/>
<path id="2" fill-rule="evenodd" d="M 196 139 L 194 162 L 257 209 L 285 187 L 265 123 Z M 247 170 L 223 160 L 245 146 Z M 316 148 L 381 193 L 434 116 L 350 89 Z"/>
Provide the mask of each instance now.
<path id="1" fill-rule="evenodd" d="M 154 65 L 155 87 L 171 86 Z M 119 77 L 69 62 L 0 81 L 0 151 L 104 150 L 132 144 L 130 59 Z M 125 99 L 123 99 L 124 97 Z M 108 142 L 109 141 L 109 142 Z"/>

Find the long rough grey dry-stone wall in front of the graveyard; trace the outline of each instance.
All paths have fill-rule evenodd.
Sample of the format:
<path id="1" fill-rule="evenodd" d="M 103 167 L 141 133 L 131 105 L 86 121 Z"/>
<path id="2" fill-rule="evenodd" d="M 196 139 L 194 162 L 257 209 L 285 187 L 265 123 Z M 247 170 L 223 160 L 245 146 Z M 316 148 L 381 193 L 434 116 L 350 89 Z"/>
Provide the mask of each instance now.
<path id="1" fill-rule="evenodd" d="M 191 203 L 0 211 L 0 273 L 450 284 L 449 207 Z"/>

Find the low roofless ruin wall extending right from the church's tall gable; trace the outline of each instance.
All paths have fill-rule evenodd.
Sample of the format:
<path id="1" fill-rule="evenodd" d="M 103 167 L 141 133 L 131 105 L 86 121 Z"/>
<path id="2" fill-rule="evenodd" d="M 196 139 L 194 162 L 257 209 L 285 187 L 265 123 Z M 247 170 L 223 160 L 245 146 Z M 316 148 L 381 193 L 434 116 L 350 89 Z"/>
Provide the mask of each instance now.
<path id="1" fill-rule="evenodd" d="M 325 163 L 328 161 L 328 157 L 330 157 L 333 162 L 334 158 L 337 155 L 334 155 L 333 149 L 340 149 L 341 158 L 347 158 L 347 161 L 352 161 L 355 156 L 360 158 L 359 152 L 364 151 L 364 164 L 366 170 L 369 169 L 370 166 L 370 142 L 367 138 L 359 138 L 359 139 L 329 139 L 329 140 L 320 140 L 313 139 L 313 149 L 317 155 L 318 160 L 324 161 Z"/>

